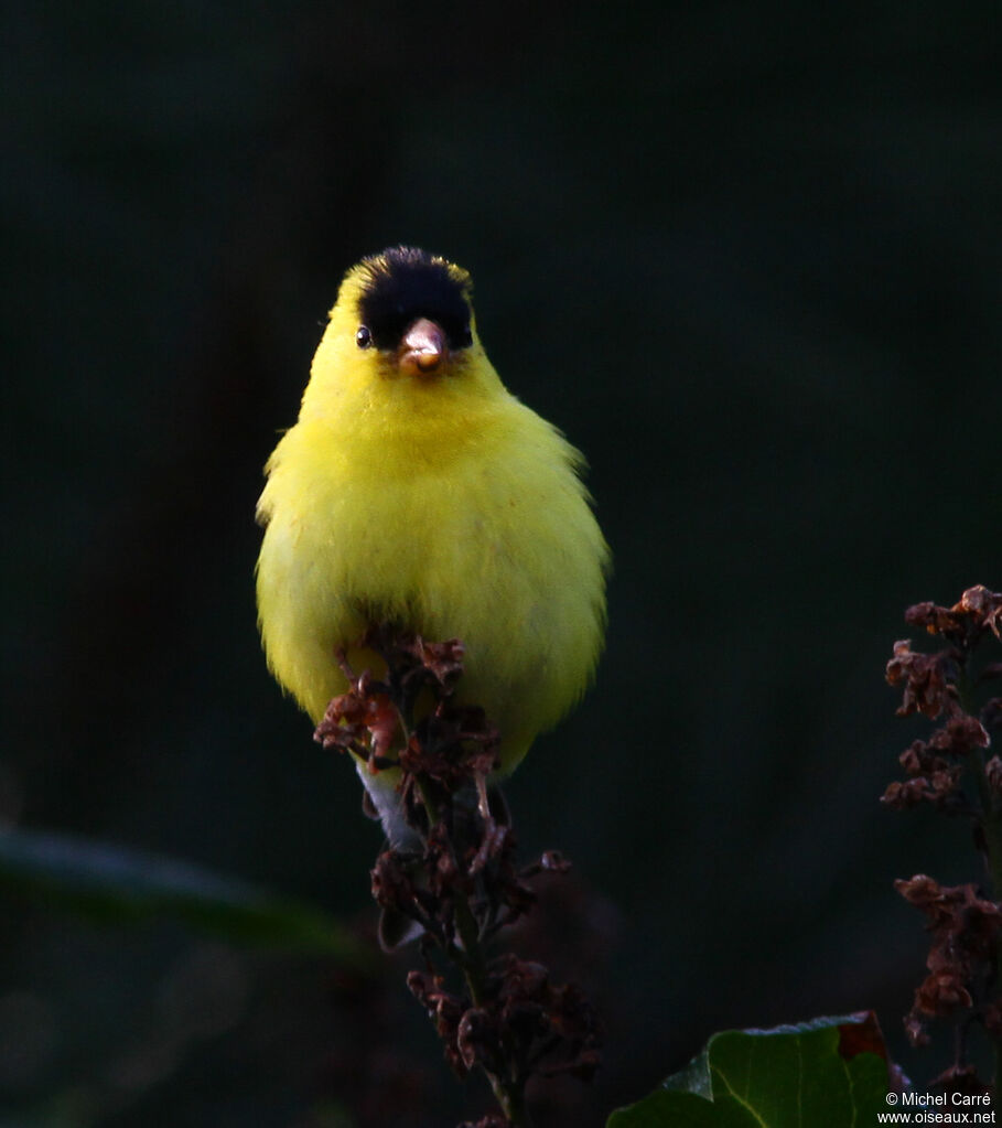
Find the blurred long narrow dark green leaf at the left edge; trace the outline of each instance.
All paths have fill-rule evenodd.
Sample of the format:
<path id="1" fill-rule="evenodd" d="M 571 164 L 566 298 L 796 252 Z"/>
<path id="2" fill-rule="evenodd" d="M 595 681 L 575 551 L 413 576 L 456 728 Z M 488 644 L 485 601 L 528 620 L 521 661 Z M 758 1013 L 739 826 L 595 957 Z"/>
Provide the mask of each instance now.
<path id="1" fill-rule="evenodd" d="M 355 967 L 371 953 L 334 917 L 195 865 L 65 835 L 0 831 L 0 885 L 112 923 L 172 918 L 242 943 L 325 953 Z"/>

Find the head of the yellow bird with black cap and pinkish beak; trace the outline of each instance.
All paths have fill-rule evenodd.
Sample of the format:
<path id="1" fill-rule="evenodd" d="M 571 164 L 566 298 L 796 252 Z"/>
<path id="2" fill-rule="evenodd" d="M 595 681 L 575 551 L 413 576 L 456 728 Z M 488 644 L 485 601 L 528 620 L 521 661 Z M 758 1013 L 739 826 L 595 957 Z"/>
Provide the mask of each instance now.
<path id="1" fill-rule="evenodd" d="M 313 361 L 328 393 L 408 402 L 495 390 L 477 336 L 470 275 L 414 247 L 363 258 L 345 275 Z M 320 389 L 314 389 L 320 390 Z"/>

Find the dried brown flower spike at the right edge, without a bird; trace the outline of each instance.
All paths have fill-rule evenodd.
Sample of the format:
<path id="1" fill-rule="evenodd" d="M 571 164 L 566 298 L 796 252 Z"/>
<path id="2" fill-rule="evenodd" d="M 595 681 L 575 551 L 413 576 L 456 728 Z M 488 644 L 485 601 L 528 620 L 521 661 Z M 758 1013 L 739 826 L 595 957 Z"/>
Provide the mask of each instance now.
<path id="1" fill-rule="evenodd" d="M 931 945 L 928 976 L 915 992 L 905 1030 L 913 1045 L 929 1041 L 929 1022 L 957 1025 L 956 1058 L 934 1084 L 960 1092 L 987 1086 L 967 1061 L 968 1031 L 981 1025 L 993 1042 L 994 1084 L 1002 1082 L 1002 760 L 992 752 L 1002 730 L 1002 697 L 991 696 L 1002 662 L 986 659 L 1002 636 L 1002 594 L 969 588 L 952 607 L 910 607 L 905 620 L 942 640 L 941 650 L 894 644 L 887 680 L 903 691 L 899 716 L 920 713 L 939 726 L 899 757 L 906 779 L 892 783 L 883 802 L 896 810 L 931 804 L 963 816 L 985 862 L 987 888 L 978 882 L 940 885 L 925 874 L 895 882 L 926 916 Z"/>

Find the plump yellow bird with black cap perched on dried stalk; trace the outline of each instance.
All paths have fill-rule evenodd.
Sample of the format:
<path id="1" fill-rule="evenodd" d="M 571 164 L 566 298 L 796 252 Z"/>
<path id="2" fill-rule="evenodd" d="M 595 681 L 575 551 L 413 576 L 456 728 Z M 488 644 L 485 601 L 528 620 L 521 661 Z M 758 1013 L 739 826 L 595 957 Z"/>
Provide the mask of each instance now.
<path id="1" fill-rule="evenodd" d="M 268 666 L 319 722 L 347 688 L 336 652 L 391 622 L 459 637 L 456 699 L 500 731 L 502 774 L 587 688 L 602 649 L 609 548 L 584 459 L 502 384 L 469 274 L 393 247 L 345 275 L 299 421 L 258 503 Z M 393 834 L 396 772 L 364 769 Z"/>

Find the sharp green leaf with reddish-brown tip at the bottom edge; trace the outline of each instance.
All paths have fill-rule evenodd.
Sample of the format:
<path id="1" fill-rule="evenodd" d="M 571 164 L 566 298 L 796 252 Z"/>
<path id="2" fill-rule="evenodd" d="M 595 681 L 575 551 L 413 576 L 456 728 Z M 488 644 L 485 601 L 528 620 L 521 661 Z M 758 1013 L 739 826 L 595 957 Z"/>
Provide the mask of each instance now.
<path id="1" fill-rule="evenodd" d="M 887 1076 L 872 1012 L 728 1030 L 606 1128 L 870 1128 Z"/>

